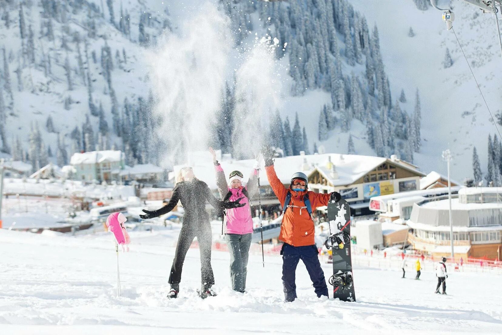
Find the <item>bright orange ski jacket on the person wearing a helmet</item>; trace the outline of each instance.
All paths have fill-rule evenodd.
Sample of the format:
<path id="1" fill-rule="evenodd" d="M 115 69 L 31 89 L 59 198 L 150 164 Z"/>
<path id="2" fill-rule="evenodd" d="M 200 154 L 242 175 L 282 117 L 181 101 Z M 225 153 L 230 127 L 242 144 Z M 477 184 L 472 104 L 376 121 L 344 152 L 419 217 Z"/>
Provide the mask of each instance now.
<path id="1" fill-rule="evenodd" d="M 266 166 L 267 178 L 269 179 L 270 186 L 276 194 L 281 207 L 284 206 L 288 190 L 291 192 L 291 200 L 289 205 L 304 207 L 305 202 L 303 196 L 306 192 L 309 194 L 309 200 L 312 210 L 317 207 L 327 206 L 330 193 L 315 193 L 313 191 L 293 191 L 290 188 L 284 187 L 283 183 L 277 178 L 274 166 Z M 284 213 L 281 225 L 281 233 L 279 240 L 295 246 L 312 246 L 314 242 L 314 221 L 310 217 L 307 208 L 288 207 Z"/>

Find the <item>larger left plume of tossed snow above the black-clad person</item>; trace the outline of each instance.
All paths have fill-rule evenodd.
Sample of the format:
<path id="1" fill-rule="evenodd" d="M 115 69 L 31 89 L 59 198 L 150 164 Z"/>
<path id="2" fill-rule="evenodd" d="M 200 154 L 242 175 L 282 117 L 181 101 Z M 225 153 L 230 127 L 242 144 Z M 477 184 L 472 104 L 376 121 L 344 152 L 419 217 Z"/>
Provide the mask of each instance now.
<path id="1" fill-rule="evenodd" d="M 167 142 L 163 163 L 170 165 L 183 162 L 188 152 L 207 150 L 233 45 L 229 20 L 205 4 L 160 45 L 149 58 L 159 98 L 155 113 Z"/>

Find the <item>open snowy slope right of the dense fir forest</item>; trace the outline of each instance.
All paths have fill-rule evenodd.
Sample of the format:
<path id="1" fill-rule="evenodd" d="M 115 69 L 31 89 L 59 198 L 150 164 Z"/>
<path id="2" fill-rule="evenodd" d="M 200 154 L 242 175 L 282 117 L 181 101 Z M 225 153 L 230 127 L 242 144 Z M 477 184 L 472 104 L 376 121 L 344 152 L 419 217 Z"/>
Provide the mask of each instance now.
<path id="1" fill-rule="evenodd" d="M 419 11 L 413 1 L 350 1 L 376 24 L 381 52 L 394 97 L 404 88 L 408 111 L 413 110 L 414 94 L 420 90 L 422 104 L 422 148 L 415 154 L 421 170 L 446 174 L 441 159 L 449 148 L 454 156 L 452 176 L 472 177 L 472 148 L 476 146 L 481 169 L 486 171 L 487 136 L 496 133 L 488 110 L 479 94 L 453 31 L 447 31 L 441 12 L 433 8 Z M 502 56 L 493 15 L 482 14 L 474 6 L 452 1 L 456 19 L 453 28 L 467 60 L 480 84 L 491 113 L 500 112 Z M 408 37 L 410 27 L 416 36 Z M 453 66 L 443 68 L 446 48 Z M 500 125 L 497 125 L 499 129 Z"/>

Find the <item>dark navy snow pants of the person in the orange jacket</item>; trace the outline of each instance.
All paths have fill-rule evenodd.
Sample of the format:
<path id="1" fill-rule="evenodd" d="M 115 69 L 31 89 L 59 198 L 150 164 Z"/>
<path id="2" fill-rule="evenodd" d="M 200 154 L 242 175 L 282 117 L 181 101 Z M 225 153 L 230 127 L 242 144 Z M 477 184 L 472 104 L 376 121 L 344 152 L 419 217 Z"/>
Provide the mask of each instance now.
<path id="1" fill-rule="evenodd" d="M 293 247 L 287 243 L 283 245 L 281 255 L 283 256 L 282 280 L 285 301 L 293 301 L 297 297 L 295 284 L 296 266 L 300 260 L 303 261 L 303 264 L 307 268 L 317 297 L 328 296 L 328 286 L 326 285 L 321 263 L 319 263 L 318 254 L 319 252 L 315 245 L 303 247 Z"/>

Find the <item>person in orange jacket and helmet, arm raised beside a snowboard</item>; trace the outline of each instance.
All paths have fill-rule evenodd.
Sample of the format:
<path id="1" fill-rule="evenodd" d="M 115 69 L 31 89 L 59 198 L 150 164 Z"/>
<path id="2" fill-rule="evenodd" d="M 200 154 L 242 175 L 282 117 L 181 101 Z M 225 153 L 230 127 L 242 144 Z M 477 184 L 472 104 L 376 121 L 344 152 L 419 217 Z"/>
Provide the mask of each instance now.
<path id="1" fill-rule="evenodd" d="M 270 186 L 283 206 L 283 218 L 279 240 L 284 242 L 281 255 L 283 258 L 282 280 L 285 301 L 294 301 L 296 295 L 296 267 L 303 261 L 314 286 L 317 297 L 328 297 L 328 287 L 318 250 L 314 242 L 314 221 L 312 210 L 327 206 L 328 201 L 338 202 L 340 193 L 315 193 L 308 191 L 307 176 L 297 172 L 291 177 L 289 188 L 284 187 L 274 169 L 274 154 L 270 147 L 264 148 L 265 170 Z"/>

